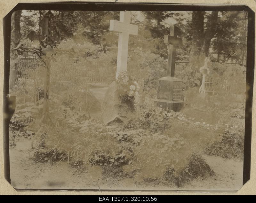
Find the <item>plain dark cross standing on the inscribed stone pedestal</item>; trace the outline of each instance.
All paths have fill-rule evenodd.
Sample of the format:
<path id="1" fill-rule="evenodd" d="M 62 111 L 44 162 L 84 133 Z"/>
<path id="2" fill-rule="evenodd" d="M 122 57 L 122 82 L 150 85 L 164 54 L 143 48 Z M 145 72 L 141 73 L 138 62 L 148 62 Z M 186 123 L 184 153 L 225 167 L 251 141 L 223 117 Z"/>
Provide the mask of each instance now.
<path id="1" fill-rule="evenodd" d="M 167 75 L 174 77 L 176 46 L 181 45 L 181 39 L 177 37 L 177 27 L 171 26 L 170 35 L 164 35 L 164 43 L 169 44 Z"/>

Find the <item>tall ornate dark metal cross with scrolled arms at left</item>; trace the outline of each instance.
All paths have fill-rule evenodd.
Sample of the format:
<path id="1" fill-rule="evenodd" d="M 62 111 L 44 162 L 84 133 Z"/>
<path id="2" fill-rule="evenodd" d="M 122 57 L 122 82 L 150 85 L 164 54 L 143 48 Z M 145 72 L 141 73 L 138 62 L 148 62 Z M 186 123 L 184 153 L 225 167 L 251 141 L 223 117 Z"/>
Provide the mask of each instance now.
<path id="1" fill-rule="evenodd" d="M 43 62 L 46 67 L 46 74 L 44 78 L 44 109 L 43 109 L 43 117 L 42 123 L 48 124 L 50 117 L 49 117 L 49 92 L 50 92 L 50 70 L 51 70 L 51 57 L 52 54 L 72 54 L 75 53 L 74 50 L 60 50 L 57 49 L 56 43 L 52 40 L 51 36 L 51 19 L 52 19 L 52 12 L 48 11 L 44 13 L 44 23 L 43 25 L 45 28 L 42 27 L 42 30 L 45 31 L 45 38 L 44 40 L 39 40 L 40 46 L 39 48 L 28 48 L 24 47 L 23 44 L 19 44 L 14 50 L 18 52 L 18 54 L 22 55 L 23 52 L 34 53 L 38 57 L 43 59 Z M 45 29 L 45 30 L 44 30 Z"/>

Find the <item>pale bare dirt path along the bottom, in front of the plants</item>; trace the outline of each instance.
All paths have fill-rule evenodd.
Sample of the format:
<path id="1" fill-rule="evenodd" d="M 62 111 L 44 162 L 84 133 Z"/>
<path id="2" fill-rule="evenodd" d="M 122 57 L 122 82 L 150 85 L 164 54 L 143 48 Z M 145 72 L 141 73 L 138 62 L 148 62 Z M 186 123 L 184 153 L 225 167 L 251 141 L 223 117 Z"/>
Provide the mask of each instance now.
<path id="1" fill-rule="evenodd" d="M 243 162 L 219 157 L 204 156 L 215 171 L 215 176 L 205 180 L 194 180 L 183 188 L 145 187 L 136 185 L 134 179 L 103 179 L 101 168 L 89 166 L 81 172 L 68 166 L 67 162 L 34 163 L 31 141 L 17 142 L 10 150 L 11 183 L 17 189 L 96 189 L 96 190 L 238 190 L 242 186 Z"/>

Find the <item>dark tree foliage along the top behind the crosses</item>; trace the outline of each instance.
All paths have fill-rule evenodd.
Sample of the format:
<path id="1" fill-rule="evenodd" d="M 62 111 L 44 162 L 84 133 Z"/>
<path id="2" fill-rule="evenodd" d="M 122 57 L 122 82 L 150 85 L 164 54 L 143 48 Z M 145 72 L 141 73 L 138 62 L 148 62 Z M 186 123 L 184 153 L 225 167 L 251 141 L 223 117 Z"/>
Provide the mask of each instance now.
<path id="1" fill-rule="evenodd" d="M 43 17 L 44 12 L 26 11 L 26 14 L 25 12 L 20 14 L 20 18 L 19 13 L 15 12 L 13 35 L 16 35 L 17 29 L 19 30 L 17 27 L 19 24 L 20 33 L 24 38 L 30 30 L 34 30 L 37 35 L 40 34 L 38 21 Z M 90 43 L 105 44 L 108 47 L 113 45 L 113 40 L 109 40 L 106 34 L 108 34 L 109 20 L 118 20 L 119 12 L 53 11 L 53 13 L 52 33 L 59 41 L 74 37 L 80 29 L 84 38 Z M 246 12 L 142 11 L 141 14 L 144 17 L 142 21 L 132 15 L 133 24 L 138 25 L 142 30 L 140 35 L 149 31 L 150 36 L 146 39 L 148 41 L 156 39 L 152 42 L 155 48 L 152 52 L 164 58 L 167 57 L 168 52 L 163 39 L 164 35 L 169 34 L 170 22 L 176 22 L 179 28 L 178 36 L 183 42 L 181 48 L 177 50 L 178 59 L 189 55 L 190 62 L 193 62 L 193 59 L 198 61 L 199 56 L 204 58 L 215 53 L 218 57 L 212 60 L 224 62 L 232 59 L 243 62 L 246 56 Z"/>

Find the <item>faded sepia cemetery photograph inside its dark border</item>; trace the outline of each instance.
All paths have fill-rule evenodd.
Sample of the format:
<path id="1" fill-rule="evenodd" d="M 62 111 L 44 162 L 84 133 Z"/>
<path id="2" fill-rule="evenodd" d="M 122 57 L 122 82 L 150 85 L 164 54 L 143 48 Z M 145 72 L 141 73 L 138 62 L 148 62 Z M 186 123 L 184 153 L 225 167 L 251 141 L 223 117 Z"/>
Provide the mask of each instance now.
<path id="1" fill-rule="evenodd" d="M 248 11 L 161 8 L 12 13 L 15 189 L 243 186 Z"/>

